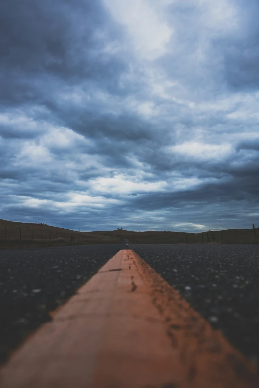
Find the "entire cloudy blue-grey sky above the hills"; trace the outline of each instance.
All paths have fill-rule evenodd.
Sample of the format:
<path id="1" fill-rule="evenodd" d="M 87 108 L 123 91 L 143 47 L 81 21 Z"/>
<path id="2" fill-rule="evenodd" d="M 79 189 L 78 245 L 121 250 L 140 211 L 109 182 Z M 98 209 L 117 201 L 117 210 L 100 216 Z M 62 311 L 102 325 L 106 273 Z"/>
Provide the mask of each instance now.
<path id="1" fill-rule="evenodd" d="M 0 218 L 259 226 L 258 0 L 1 0 Z"/>

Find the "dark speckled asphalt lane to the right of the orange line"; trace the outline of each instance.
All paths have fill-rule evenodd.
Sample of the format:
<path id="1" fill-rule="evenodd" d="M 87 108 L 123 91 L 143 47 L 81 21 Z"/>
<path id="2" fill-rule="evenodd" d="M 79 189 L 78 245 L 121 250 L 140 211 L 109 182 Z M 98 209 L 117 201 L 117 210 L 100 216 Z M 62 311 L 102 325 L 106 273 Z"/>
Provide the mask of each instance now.
<path id="1" fill-rule="evenodd" d="M 129 244 L 142 259 L 259 363 L 259 246 Z"/>

